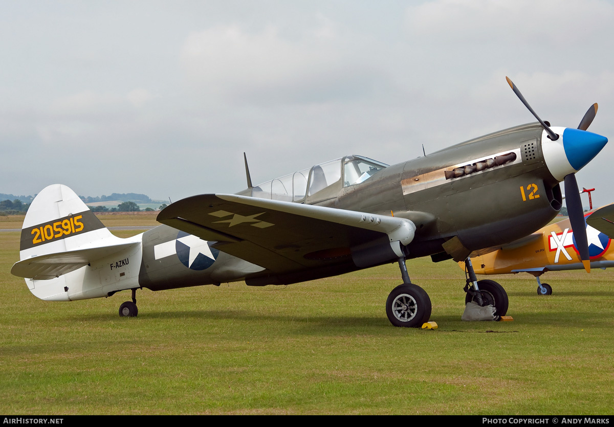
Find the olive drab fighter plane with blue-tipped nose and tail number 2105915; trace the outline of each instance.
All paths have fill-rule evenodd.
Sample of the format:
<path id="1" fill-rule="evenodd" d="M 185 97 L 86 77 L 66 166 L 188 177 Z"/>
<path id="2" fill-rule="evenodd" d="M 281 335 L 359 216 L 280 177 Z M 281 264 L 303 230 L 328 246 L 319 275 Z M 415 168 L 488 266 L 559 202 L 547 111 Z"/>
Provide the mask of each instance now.
<path id="1" fill-rule="evenodd" d="M 464 261 L 467 301 L 505 315 L 499 283 L 476 279 L 470 255 L 500 247 L 549 223 L 562 206 L 573 229 L 584 223 L 575 172 L 605 146 L 578 128 L 551 127 L 516 96 L 538 123 L 516 126 L 388 166 L 356 155 L 317 164 L 236 194 L 201 194 L 174 202 L 162 225 L 128 239 L 108 231 L 68 187 L 38 194 L 21 231 L 12 273 L 49 301 L 132 291 L 121 316 L 136 316 L 136 290 L 221 282 L 286 285 L 398 263 L 403 283 L 386 301 L 395 326 L 420 327 L 431 302 L 412 283 L 405 260 Z M 586 233 L 575 235 L 588 269 Z M 492 250 L 492 249 L 490 249 Z"/>

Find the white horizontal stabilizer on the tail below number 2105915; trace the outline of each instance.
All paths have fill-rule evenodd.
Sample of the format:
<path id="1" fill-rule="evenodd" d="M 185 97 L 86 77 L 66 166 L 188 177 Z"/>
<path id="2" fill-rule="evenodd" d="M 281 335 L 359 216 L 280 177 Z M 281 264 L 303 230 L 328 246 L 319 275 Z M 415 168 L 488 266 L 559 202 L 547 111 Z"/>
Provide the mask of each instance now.
<path id="1" fill-rule="evenodd" d="M 107 244 L 68 252 L 47 253 L 15 263 L 10 272 L 26 279 L 48 280 L 77 270 L 93 261 L 141 245 L 141 242 Z"/>

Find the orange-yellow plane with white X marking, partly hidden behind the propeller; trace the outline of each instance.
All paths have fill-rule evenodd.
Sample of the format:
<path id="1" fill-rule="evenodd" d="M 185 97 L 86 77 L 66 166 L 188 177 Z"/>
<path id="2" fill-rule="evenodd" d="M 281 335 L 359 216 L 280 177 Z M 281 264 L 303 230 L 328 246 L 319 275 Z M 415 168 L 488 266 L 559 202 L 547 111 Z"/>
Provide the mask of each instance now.
<path id="1" fill-rule="evenodd" d="M 591 268 L 614 267 L 614 204 L 585 215 L 588 255 Z M 583 269 L 578 242 L 570 220 L 546 225 L 529 236 L 503 245 L 494 252 L 471 258 L 476 274 L 516 274 L 527 272 L 537 279 L 537 294 L 551 295 L 552 287 L 540 276 L 548 271 Z M 459 263 L 462 269 L 464 263 Z"/>

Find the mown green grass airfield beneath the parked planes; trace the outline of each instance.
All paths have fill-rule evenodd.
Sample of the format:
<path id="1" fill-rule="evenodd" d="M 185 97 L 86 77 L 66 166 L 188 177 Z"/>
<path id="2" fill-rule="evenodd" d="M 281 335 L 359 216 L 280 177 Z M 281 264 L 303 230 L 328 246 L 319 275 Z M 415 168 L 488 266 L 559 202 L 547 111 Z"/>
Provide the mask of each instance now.
<path id="1" fill-rule="evenodd" d="M 551 297 L 529 275 L 491 276 L 515 321 L 462 322 L 461 269 L 408 261 L 435 331 L 387 320 L 395 264 L 288 287 L 142 290 L 139 317 L 120 318 L 128 291 L 35 298 L 9 272 L 18 240 L 0 233 L 7 415 L 612 414 L 612 272 L 548 273 Z"/>

